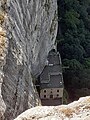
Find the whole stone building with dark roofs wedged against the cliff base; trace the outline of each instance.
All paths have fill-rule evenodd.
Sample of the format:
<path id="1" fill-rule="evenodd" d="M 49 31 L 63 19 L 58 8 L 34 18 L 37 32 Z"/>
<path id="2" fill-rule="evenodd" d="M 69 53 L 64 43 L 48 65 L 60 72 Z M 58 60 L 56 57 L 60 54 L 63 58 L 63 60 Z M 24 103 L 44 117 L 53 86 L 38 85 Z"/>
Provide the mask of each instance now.
<path id="1" fill-rule="evenodd" d="M 40 98 L 42 105 L 60 105 L 63 99 L 63 75 L 58 52 L 48 54 L 47 65 L 40 75 Z"/>

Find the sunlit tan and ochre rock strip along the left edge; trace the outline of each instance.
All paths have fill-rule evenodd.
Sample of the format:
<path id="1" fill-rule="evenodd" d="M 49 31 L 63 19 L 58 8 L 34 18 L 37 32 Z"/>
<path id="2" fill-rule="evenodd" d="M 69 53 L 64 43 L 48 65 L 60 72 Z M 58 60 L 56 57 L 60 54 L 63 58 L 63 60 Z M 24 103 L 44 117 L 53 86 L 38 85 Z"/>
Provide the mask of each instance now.
<path id="1" fill-rule="evenodd" d="M 6 54 L 8 47 L 8 40 L 6 38 L 6 30 L 5 30 L 5 20 L 7 19 L 5 3 L 6 2 L 3 0 L 0 1 L 0 120 L 4 118 L 3 114 L 6 109 L 6 104 L 2 96 L 2 84 L 4 78 L 3 66 L 6 64 Z"/>

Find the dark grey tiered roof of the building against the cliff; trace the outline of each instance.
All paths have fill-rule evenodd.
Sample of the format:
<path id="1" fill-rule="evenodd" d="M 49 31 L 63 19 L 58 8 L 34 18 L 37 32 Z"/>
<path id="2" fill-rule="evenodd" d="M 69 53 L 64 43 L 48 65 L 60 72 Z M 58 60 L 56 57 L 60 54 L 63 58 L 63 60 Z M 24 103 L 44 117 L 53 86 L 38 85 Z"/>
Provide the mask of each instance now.
<path id="1" fill-rule="evenodd" d="M 48 65 L 40 75 L 41 88 L 63 87 L 62 66 L 59 54 L 51 51 L 48 55 Z"/>

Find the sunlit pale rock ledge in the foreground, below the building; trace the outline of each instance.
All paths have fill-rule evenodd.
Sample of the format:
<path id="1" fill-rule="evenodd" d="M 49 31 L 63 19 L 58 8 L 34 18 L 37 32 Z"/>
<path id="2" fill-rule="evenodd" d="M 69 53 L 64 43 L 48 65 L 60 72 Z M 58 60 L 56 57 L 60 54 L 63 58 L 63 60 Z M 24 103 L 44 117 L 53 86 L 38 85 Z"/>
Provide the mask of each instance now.
<path id="1" fill-rule="evenodd" d="M 14 120 L 90 120 L 90 96 L 69 105 L 31 108 Z"/>

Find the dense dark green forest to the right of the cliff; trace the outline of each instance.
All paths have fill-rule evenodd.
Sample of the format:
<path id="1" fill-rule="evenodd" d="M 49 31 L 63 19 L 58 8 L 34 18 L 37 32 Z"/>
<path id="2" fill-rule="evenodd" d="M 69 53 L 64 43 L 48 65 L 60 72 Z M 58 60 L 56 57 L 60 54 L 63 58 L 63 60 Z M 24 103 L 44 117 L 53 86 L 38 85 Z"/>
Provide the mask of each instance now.
<path id="1" fill-rule="evenodd" d="M 57 48 L 63 65 L 69 66 L 64 80 L 75 78 L 77 83 L 84 69 L 90 69 L 90 0 L 59 0 L 58 4 L 61 33 L 57 36 Z"/>

